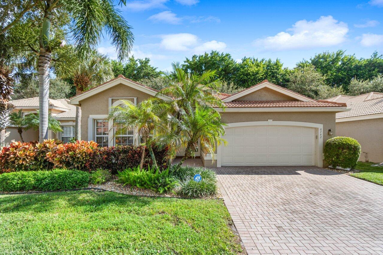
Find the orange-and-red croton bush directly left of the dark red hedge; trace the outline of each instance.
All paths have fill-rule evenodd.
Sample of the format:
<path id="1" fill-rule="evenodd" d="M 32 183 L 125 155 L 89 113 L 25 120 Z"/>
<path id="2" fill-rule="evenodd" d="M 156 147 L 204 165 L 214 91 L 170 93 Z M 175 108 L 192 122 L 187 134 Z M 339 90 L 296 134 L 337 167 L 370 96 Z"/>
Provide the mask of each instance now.
<path id="1" fill-rule="evenodd" d="M 55 150 L 46 153 L 46 158 L 54 167 L 67 167 L 69 169 L 87 170 L 85 163 L 90 154 L 97 148 L 94 141 L 76 141 L 57 145 Z"/>

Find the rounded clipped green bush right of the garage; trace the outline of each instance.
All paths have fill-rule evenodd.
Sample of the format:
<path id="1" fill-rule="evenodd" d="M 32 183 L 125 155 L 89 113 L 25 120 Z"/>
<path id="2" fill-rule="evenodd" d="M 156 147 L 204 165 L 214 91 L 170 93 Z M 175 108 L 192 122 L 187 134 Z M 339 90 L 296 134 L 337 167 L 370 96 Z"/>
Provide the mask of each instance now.
<path id="1" fill-rule="evenodd" d="M 324 159 L 333 167 L 354 168 L 359 156 L 360 144 L 354 138 L 337 136 L 324 145 Z"/>

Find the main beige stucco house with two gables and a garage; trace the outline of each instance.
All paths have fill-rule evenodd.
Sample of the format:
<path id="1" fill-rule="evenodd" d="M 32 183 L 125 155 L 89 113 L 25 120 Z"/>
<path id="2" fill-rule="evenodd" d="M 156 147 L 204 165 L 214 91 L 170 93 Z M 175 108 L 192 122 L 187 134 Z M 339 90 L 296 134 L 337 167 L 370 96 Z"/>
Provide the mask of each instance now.
<path id="1" fill-rule="evenodd" d="M 113 120 L 105 118 L 121 99 L 137 104 L 157 92 L 119 75 L 71 97 L 70 104 L 81 106 L 82 139 L 100 146 L 138 144 L 134 130 L 113 138 L 108 132 Z M 217 110 L 228 123 L 224 136 L 228 144 L 218 146 L 215 155 L 198 152 L 205 166 L 322 167 L 323 143 L 336 134 L 335 115 L 347 110 L 345 103 L 314 100 L 267 80 L 233 95 L 218 96 L 226 105 L 224 111 Z"/>

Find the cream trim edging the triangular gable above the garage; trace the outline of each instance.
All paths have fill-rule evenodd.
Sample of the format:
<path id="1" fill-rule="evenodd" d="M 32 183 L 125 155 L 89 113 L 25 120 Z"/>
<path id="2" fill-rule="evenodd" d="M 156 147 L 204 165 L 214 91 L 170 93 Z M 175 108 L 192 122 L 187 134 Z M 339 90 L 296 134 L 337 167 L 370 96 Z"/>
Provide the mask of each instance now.
<path id="1" fill-rule="evenodd" d="M 231 102 L 236 99 L 246 98 L 245 96 L 250 93 L 256 93 L 256 91 L 259 91 L 260 89 L 267 88 L 272 91 L 276 91 L 277 93 L 280 93 L 282 95 L 285 95 L 290 100 L 298 100 L 303 102 L 316 102 L 314 99 L 311 99 L 309 97 L 303 96 L 301 94 L 295 93 L 294 91 L 291 91 L 290 89 L 282 88 L 281 86 L 275 85 L 273 83 L 268 82 L 268 80 L 264 80 L 261 83 L 255 84 L 254 86 L 251 86 L 250 88 L 244 89 L 242 91 L 239 91 L 235 94 L 232 94 L 231 96 L 228 96 L 224 98 L 223 102 Z M 270 99 L 263 99 L 263 100 L 270 100 Z M 239 100 L 236 100 L 239 101 Z"/>

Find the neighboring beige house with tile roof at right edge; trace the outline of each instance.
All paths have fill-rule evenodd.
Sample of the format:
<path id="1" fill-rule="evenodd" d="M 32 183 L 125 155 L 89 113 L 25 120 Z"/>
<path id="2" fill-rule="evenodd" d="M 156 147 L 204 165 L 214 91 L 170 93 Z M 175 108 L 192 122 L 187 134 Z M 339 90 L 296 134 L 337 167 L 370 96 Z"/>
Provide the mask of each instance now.
<path id="1" fill-rule="evenodd" d="M 362 146 L 361 161 L 383 162 L 383 93 L 336 96 L 328 101 L 344 102 L 350 110 L 336 114 L 339 136 L 356 139 Z"/>

